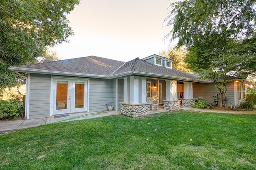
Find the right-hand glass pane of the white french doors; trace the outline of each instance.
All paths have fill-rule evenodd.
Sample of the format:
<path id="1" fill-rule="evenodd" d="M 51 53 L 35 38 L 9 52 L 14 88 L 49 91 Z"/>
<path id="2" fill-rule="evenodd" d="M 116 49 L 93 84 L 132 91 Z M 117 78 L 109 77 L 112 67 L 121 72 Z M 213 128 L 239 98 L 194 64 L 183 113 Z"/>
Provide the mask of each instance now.
<path id="1" fill-rule="evenodd" d="M 84 107 L 84 82 L 75 83 L 75 108 Z"/>

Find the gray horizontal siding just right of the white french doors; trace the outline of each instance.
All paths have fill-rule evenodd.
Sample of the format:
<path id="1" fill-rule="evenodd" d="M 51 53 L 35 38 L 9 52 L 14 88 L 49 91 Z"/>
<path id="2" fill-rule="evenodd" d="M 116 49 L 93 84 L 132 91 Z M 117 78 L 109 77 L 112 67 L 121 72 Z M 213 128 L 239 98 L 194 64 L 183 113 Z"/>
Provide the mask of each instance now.
<path id="1" fill-rule="evenodd" d="M 90 112 L 106 111 L 106 103 L 114 105 L 113 81 L 108 79 L 90 79 Z"/>

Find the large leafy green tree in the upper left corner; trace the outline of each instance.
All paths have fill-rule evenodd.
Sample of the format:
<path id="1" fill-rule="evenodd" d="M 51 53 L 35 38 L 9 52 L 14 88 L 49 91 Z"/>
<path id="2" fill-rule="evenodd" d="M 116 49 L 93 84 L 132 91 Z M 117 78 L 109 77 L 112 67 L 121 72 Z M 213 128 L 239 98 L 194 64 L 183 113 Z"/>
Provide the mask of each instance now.
<path id="1" fill-rule="evenodd" d="M 2 0 L 0 2 L 0 91 L 17 83 L 7 67 L 35 61 L 47 47 L 67 42 L 69 14 L 79 0 Z"/>

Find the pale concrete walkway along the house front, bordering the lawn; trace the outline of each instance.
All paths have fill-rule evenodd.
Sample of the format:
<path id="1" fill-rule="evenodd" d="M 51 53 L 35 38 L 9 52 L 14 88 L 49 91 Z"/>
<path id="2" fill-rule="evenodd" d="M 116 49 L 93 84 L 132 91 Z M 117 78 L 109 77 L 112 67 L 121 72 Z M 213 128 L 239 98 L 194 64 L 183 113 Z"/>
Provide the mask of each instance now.
<path id="1" fill-rule="evenodd" d="M 196 109 L 193 107 L 180 107 L 181 110 L 195 111 L 195 112 L 212 112 L 212 113 L 231 113 L 231 114 L 250 114 L 256 115 L 256 111 L 232 111 L 232 110 L 214 110 L 214 109 Z M 151 114 L 166 112 L 167 110 L 159 107 L 158 111 L 150 112 Z M 75 121 L 82 119 L 90 119 L 95 117 L 105 117 L 111 115 L 120 115 L 120 111 L 106 111 L 102 113 L 72 113 L 66 115 L 55 115 L 48 118 L 30 119 L 30 120 L 12 120 L 0 121 L 0 134 L 12 132 L 18 129 L 37 127 L 50 123 Z"/>

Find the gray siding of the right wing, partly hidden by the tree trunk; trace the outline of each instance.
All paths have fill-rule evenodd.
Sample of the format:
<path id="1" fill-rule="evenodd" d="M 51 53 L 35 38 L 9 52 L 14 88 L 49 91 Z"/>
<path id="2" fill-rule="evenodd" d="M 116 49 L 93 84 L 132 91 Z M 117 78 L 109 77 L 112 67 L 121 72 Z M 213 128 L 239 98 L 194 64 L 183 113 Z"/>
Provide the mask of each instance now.
<path id="1" fill-rule="evenodd" d="M 202 96 L 206 103 L 214 104 L 213 95 L 218 94 L 219 91 L 216 87 L 213 87 L 213 83 L 193 83 L 193 98 Z M 233 82 L 229 82 L 227 85 L 227 92 L 225 95 L 232 103 L 234 103 L 234 85 Z M 230 101 L 226 103 L 227 106 L 231 106 Z"/>

